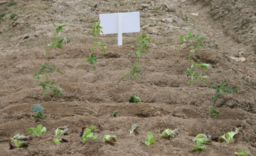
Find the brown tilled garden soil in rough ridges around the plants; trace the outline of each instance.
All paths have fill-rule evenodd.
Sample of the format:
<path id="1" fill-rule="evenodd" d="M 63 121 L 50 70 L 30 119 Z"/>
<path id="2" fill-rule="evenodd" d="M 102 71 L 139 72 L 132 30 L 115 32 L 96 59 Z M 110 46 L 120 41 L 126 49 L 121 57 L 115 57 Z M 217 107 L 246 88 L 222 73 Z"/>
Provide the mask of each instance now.
<path id="1" fill-rule="evenodd" d="M 242 149 L 256 155 L 256 1 L 255 0 L 11 0 L 0 3 L 0 155 L 1 156 L 235 156 Z M 123 34 L 117 46 L 117 34 L 100 35 L 107 44 L 103 54 L 94 49 L 95 64 L 83 63 L 93 45 L 92 27 L 99 14 L 140 12 L 141 32 Z M 12 14 L 17 17 L 10 19 Z M 54 22 L 66 24 L 57 35 L 64 39 L 62 49 L 50 47 Z M 179 51 L 181 35 L 192 30 L 193 42 L 186 38 Z M 104 33 L 104 27 L 103 27 Z M 151 36 L 149 51 L 141 55 L 141 73 L 135 80 L 124 78 L 134 63 L 134 48 L 141 34 Z M 203 47 L 192 54 L 196 38 Z M 196 58 L 195 58 L 196 57 Z M 242 61 L 238 61 L 242 60 Z M 245 61 L 244 61 L 245 60 Z M 208 63 L 208 82 L 196 80 L 191 86 L 184 75 L 193 63 Z M 43 88 L 33 79 L 36 70 L 47 63 L 63 74 L 49 73 L 49 80 L 62 85 L 62 96 Z M 194 68 L 201 72 L 198 67 Z M 218 85 L 227 80 L 237 93 L 223 93 L 214 105 L 220 114 L 209 116 L 211 97 Z M 45 81 L 45 77 L 41 78 Z M 138 94 L 141 103 L 129 103 Z M 40 104 L 43 119 L 35 118 L 30 108 Z M 108 116 L 118 110 L 118 116 Z M 130 134 L 139 124 L 139 135 Z M 99 123 L 96 140 L 81 142 L 82 127 Z M 28 148 L 10 150 L 11 137 L 30 135 L 28 129 L 42 124 L 47 131 L 33 136 Z M 68 126 L 70 135 L 55 136 L 55 129 Z M 173 139 L 160 137 L 166 129 L 179 129 Z M 198 134 L 222 136 L 240 130 L 237 143 L 215 142 L 194 151 L 192 141 Z M 145 145 L 147 132 L 156 140 Z M 115 145 L 103 143 L 104 135 L 116 135 Z M 67 139 L 52 143 L 52 139 Z M 203 145 L 203 144 L 201 144 Z"/>

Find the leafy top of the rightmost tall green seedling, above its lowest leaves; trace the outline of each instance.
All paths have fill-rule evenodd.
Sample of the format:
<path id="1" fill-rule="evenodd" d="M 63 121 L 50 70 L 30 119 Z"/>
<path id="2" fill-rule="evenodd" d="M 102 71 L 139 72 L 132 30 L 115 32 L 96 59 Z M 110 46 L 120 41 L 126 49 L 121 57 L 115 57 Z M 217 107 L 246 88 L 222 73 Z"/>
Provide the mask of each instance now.
<path id="1" fill-rule="evenodd" d="M 213 97 L 211 97 L 211 100 L 214 100 L 213 106 L 215 105 L 215 102 L 217 101 L 218 97 L 222 94 L 222 93 L 230 93 L 230 91 L 234 93 L 237 93 L 237 87 L 234 86 L 232 88 L 228 88 L 229 87 L 229 83 L 227 82 L 227 80 L 225 79 L 224 81 L 220 82 L 220 86 L 216 86 L 216 85 L 212 85 L 209 87 L 209 91 L 210 89 L 217 89 L 217 91 L 215 91 L 215 95 L 213 95 Z"/>

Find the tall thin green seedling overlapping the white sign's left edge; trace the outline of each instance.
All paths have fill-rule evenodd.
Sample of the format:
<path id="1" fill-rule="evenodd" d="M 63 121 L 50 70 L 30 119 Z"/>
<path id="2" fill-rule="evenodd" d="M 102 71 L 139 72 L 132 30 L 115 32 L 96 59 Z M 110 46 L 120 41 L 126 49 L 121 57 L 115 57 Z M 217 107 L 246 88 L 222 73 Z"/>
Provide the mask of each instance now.
<path id="1" fill-rule="evenodd" d="M 100 30 L 100 29 L 103 29 L 103 28 L 100 26 L 100 21 L 98 21 L 98 22 L 96 23 L 96 25 L 93 25 L 93 24 L 89 25 L 89 27 L 94 27 L 94 28 L 92 29 L 92 34 L 93 34 L 93 36 L 94 36 L 94 44 L 93 44 L 93 47 L 91 48 L 90 57 L 88 57 L 87 59 L 84 59 L 84 60 L 77 66 L 77 68 L 78 68 L 82 63 L 88 62 L 88 63 L 90 63 L 90 64 L 92 65 L 92 70 L 95 70 L 95 71 L 96 71 L 96 67 L 94 66 L 94 64 L 97 62 L 96 59 L 95 59 L 96 55 L 94 55 L 92 52 L 93 52 L 95 46 L 100 46 L 100 47 L 102 48 L 102 53 L 104 53 L 105 50 L 106 50 L 106 46 L 105 46 L 106 44 L 100 44 L 101 42 L 96 42 L 96 37 L 98 37 L 97 34 L 98 34 L 99 32 L 102 32 L 102 30 Z M 103 32 L 102 32 L 102 34 L 103 34 Z M 95 61 L 95 62 L 94 62 L 94 61 Z"/>

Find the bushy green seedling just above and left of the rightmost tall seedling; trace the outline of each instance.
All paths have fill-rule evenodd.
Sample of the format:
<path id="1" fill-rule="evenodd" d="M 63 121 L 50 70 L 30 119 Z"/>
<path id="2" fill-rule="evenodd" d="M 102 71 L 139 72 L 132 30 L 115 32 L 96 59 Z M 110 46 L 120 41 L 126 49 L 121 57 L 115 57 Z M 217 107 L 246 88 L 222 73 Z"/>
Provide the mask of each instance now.
<path id="1" fill-rule="evenodd" d="M 194 65 L 197 65 L 197 66 L 201 67 L 201 74 L 200 75 L 198 75 L 196 73 L 197 71 L 194 71 Z M 202 76 L 202 74 L 203 74 L 203 69 L 208 70 L 207 67 L 209 67 L 209 66 L 210 66 L 209 64 L 205 64 L 205 63 L 201 64 L 201 63 L 197 62 L 197 63 L 192 64 L 190 69 L 189 69 L 189 67 L 187 67 L 188 71 L 185 72 L 185 75 L 188 74 L 188 76 L 189 76 L 188 83 L 191 86 L 193 86 L 193 82 L 195 80 L 197 80 L 198 78 L 199 78 L 199 80 L 202 79 L 202 83 L 203 83 L 204 80 L 205 80 L 205 82 L 208 82 L 208 80 L 206 79 L 206 78 L 208 78 L 208 76 Z"/>

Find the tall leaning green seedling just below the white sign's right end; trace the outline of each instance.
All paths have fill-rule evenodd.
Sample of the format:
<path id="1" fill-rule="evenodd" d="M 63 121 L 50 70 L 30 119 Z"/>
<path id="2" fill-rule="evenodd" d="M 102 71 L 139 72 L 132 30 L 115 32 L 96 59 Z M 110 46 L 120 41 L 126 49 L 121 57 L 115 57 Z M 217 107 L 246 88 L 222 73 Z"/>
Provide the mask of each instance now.
<path id="1" fill-rule="evenodd" d="M 147 40 L 148 42 L 149 42 L 149 44 L 151 43 L 150 42 L 150 40 L 151 40 L 151 38 L 150 37 L 147 37 L 147 36 L 145 36 L 145 35 L 143 35 L 143 34 L 141 34 L 142 35 L 142 37 L 139 37 L 139 38 L 137 38 L 137 41 L 135 42 L 135 48 L 136 48 L 136 53 L 135 54 L 133 54 L 134 55 L 134 57 L 135 57 L 135 61 L 134 61 L 134 63 L 133 63 L 133 66 L 132 66 L 132 68 L 130 69 L 130 71 L 125 75 L 125 76 L 123 76 L 120 80 L 119 80 L 119 82 L 121 81 L 121 80 L 123 80 L 123 78 L 125 78 L 125 77 L 127 77 L 127 81 L 125 81 L 125 82 L 128 82 L 129 81 L 129 76 L 130 76 L 130 78 L 132 79 L 132 80 L 134 80 L 135 78 L 137 78 L 138 77 L 138 75 L 142 75 L 140 72 L 141 72 L 141 69 L 139 69 L 139 65 L 141 65 L 140 63 L 139 63 L 139 60 L 140 60 L 140 57 L 141 57 L 141 53 L 144 53 L 143 52 L 143 49 L 146 49 L 147 51 L 149 51 L 148 50 L 148 48 L 146 47 L 147 46 L 147 43 L 145 43 L 145 40 Z M 131 46 L 131 47 L 134 47 L 133 45 Z M 137 61 L 137 62 L 136 62 Z M 134 75 L 135 74 L 135 75 Z"/>

